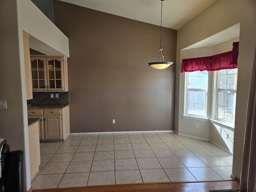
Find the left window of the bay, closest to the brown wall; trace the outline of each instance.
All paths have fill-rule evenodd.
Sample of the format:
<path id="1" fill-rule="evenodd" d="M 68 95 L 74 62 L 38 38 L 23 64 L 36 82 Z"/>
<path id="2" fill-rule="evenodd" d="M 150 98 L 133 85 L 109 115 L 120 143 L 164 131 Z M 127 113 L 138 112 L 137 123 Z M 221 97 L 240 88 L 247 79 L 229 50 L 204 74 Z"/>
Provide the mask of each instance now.
<path id="1" fill-rule="evenodd" d="M 208 71 L 187 72 L 186 115 L 206 117 Z"/>

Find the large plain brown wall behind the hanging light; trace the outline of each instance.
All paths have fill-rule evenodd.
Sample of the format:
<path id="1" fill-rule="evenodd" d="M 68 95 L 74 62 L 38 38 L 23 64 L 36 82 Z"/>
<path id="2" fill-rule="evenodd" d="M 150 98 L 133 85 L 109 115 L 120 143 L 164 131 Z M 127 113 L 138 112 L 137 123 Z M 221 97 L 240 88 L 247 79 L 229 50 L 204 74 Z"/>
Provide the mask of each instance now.
<path id="1" fill-rule="evenodd" d="M 160 26 L 56 0 L 54 21 L 69 38 L 71 132 L 174 130 L 176 30 L 162 29 L 174 64 L 156 70 Z"/>

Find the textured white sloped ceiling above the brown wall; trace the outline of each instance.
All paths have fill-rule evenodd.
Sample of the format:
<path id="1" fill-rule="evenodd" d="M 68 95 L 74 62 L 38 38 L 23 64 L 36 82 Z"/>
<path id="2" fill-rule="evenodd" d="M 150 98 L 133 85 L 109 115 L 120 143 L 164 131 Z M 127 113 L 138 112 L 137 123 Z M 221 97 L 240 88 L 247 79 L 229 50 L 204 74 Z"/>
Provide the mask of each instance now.
<path id="1" fill-rule="evenodd" d="M 61 0 L 160 26 L 161 0 Z M 216 0 L 163 0 L 162 26 L 178 30 Z"/>

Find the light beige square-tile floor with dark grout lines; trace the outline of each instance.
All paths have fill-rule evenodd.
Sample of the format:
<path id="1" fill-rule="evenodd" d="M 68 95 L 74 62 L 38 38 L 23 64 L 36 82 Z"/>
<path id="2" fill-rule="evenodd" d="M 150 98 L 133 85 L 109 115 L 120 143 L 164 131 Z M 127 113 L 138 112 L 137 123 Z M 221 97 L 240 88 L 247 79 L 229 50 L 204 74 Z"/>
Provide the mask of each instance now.
<path id="1" fill-rule="evenodd" d="M 173 132 L 70 135 L 41 142 L 32 188 L 231 179 L 233 156 Z"/>

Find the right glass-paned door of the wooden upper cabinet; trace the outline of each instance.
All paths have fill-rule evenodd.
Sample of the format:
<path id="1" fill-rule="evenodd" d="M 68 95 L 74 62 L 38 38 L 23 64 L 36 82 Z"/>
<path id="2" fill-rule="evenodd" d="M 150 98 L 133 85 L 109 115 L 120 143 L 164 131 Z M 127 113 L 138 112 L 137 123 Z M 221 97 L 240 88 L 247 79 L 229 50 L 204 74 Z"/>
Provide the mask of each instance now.
<path id="1" fill-rule="evenodd" d="M 62 88 L 62 58 L 47 58 L 48 89 Z"/>

